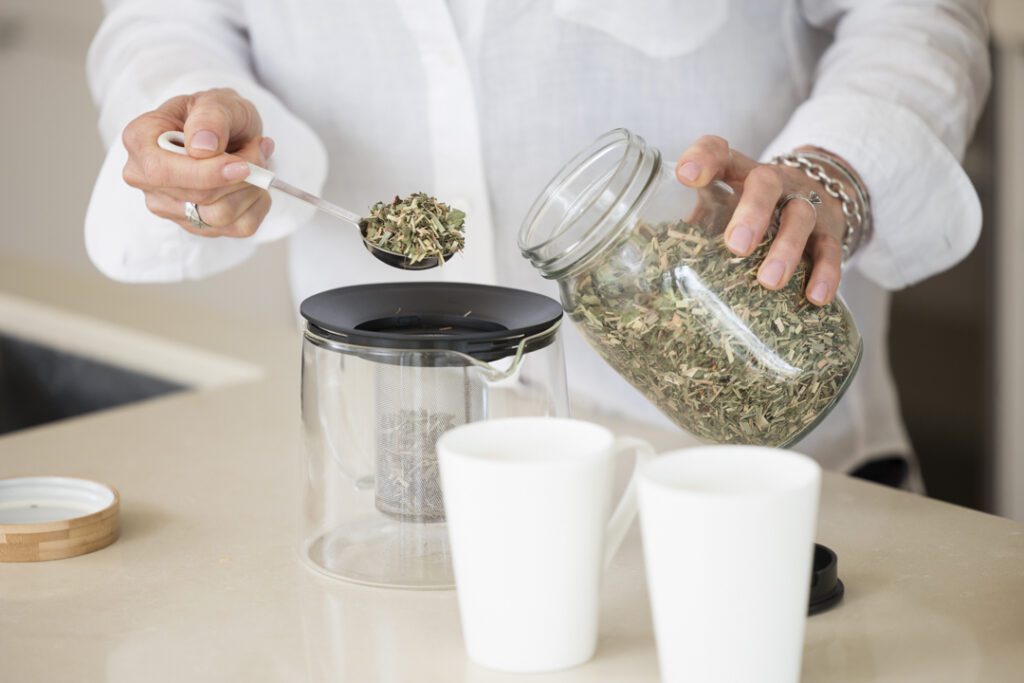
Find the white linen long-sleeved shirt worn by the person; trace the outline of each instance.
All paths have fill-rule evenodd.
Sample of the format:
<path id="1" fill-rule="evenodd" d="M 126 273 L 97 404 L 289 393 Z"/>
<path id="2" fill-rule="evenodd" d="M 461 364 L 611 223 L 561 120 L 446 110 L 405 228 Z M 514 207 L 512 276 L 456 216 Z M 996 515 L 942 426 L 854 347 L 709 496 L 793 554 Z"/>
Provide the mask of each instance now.
<path id="1" fill-rule="evenodd" d="M 366 282 L 452 280 L 557 298 L 515 236 L 573 154 L 626 127 L 669 163 L 702 134 L 752 156 L 814 144 L 871 196 L 874 234 L 842 294 L 864 340 L 856 379 L 797 449 L 830 469 L 910 454 L 889 375 L 887 289 L 973 248 L 977 196 L 957 159 L 987 93 L 980 0 L 106 0 L 88 74 L 110 145 L 86 217 L 96 266 L 168 282 L 290 241 L 295 301 Z M 424 190 L 468 214 L 442 269 L 397 271 L 357 231 L 273 195 L 255 237 L 209 240 L 151 215 L 121 178 L 124 126 L 165 99 L 231 87 L 276 141 L 273 169 L 359 211 Z M 570 328 L 578 403 L 662 420 Z"/>

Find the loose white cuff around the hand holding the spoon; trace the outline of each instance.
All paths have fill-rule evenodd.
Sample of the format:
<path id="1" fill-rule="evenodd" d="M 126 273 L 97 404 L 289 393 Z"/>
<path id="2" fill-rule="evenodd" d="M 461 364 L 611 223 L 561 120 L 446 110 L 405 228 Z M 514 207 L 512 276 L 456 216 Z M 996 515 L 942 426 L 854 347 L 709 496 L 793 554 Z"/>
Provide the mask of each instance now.
<path id="1" fill-rule="evenodd" d="M 170 83 L 150 108 L 175 95 L 215 87 L 232 88 L 256 106 L 263 121 L 263 134 L 276 143 L 269 168 L 288 182 L 318 195 L 328 172 L 324 144 L 308 125 L 251 78 L 229 72 L 191 72 Z M 315 213 L 310 205 L 273 191 L 270 212 L 252 238 L 191 234 L 151 214 L 142 194 L 125 183 L 121 173 L 127 152 L 120 136 L 115 139 L 96 178 L 85 220 L 86 251 L 96 267 L 114 280 L 176 282 L 206 278 L 241 263 L 256 245 L 287 237 Z"/>

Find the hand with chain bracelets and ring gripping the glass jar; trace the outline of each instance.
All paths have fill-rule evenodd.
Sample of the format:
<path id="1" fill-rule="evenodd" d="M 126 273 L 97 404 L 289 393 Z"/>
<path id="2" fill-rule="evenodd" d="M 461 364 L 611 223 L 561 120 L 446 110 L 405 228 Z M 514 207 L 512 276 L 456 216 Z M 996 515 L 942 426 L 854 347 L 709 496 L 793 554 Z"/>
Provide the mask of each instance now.
<path id="1" fill-rule="evenodd" d="M 694 188 L 721 180 L 740 193 L 725 228 L 725 244 L 736 256 L 754 252 L 781 207 L 778 231 L 758 268 L 758 281 L 766 289 L 781 289 L 807 253 L 813 268 L 804 291 L 810 302 L 822 306 L 836 297 L 842 262 L 863 239 L 867 199 L 859 179 L 841 160 L 813 147 L 799 153 L 806 153 L 811 164 L 824 167 L 828 175 L 815 179 L 805 170 L 811 164 L 799 160 L 792 165 L 761 164 L 730 148 L 725 139 L 706 135 L 680 156 L 676 177 Z M 811 197 L 820 198 L 821 203 L 814 206 L 806 199 Z"/>

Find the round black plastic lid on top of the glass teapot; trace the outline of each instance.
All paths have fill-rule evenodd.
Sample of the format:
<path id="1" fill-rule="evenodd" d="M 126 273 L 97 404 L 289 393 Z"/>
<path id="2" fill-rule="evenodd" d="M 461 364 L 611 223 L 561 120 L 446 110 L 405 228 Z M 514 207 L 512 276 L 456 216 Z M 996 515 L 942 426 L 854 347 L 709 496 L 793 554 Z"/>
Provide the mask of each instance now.
<path id="1" fill-rule="evenodd" d="M 299 307 L 310 331 L 354 346 L 460 351 L 480 360 L 516 352 L 519 342 L 562 316 L 554 299 L 466 283 L 385 283 L 314 294 Z M 555 335 L 530 343 L 547 346 Z"/>

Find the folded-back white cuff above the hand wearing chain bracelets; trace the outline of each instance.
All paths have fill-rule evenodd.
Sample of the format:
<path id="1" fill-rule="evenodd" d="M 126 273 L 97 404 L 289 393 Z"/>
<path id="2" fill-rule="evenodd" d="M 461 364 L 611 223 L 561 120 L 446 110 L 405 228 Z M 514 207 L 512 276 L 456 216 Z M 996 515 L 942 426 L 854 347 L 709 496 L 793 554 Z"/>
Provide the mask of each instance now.
<path id="1" fill-rule="evenodd" d="M 949 150 L 909 110 L 864 95 L 804 102 L 762 157 L 818 146 L 856 170 L 871 196 L 873 233 L 851 265 L 890 290 L 941 272 L 974 249 L 978 195 Z"/>

